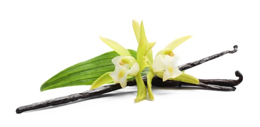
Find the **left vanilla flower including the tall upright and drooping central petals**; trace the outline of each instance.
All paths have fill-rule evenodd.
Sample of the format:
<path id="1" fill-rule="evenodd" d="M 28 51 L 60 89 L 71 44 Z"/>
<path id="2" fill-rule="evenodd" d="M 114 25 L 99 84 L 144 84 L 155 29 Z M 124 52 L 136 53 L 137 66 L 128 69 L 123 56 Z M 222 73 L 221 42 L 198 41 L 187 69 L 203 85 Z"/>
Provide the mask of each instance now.
<path id="1" fill-rule="evenodd" d="M 148 43 L 144 32 L 143 22 L 141 22 L 140 25 L 137 21 L 133 21 L 133 28 L 138 41 L 137 59 L 133 58 L 129 51 L 119 43 L 100 37 L 103 42 L 114 49 L 120 56 L 115 57 L 112 60 L 112 63 L 115 64 L 115 70 L 100 76 L 91 85 L 91 89 L 97 88 L 100 85 L 104 85 L 112 81 L 114 81 L 114 83 L 120 83 L 121 87 L 124 88 L 127 85 L 127 78 L 132 78 L 135 76 L 138 88 L 137 98 L 135 100 L 140 101 L 146 97 L 147 91 L 141 77 L 141 72 L 147 66 L 152 69 L 151 63 L 153 59 L 151 48 L 154 46 L 155 42 Z M 149 97 L 151 100 L 153 100 L 153 95 L 151 92 L 151 76 L 147 76 L 147 85 Z"/>

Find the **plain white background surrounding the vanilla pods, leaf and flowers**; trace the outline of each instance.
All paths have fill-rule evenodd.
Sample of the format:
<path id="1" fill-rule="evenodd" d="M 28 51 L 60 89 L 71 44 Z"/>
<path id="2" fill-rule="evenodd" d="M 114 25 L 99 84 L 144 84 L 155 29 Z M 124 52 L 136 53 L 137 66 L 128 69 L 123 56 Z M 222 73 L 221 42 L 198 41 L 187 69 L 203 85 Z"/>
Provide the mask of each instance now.
<path id="1" fill-rule="evenodd" d="M 170 1 L 170 0 L 169 0 Z M 0 127 L 160 126 L 259 127 L 260 4 L 257 0 L 1 0 Z M 137 87 L 63 106 L 16 114 L 19 106 L 83 92 L 72 86 L 40 92 L 61 70 L 111 49 L 99 36 L 137 49 L 132 20 L 144 21 L 157 53 L 174 39 L 193 35 L 174 50 L 179 64 L 232 50 L 186 70 L 200 79 L 244 81 L 236 91 L 156 88 L 155 101 L 134 103 Z"/>

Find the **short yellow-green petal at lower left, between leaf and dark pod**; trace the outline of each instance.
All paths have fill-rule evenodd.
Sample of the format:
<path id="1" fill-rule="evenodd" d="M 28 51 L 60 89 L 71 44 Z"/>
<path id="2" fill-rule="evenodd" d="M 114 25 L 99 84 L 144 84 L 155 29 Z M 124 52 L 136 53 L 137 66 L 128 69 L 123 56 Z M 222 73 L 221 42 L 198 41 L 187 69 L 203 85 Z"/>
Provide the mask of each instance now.
<path id="1" fill-rule="evenodd" d="M 107 84 L 107 83 L 110 83 L 113 81 L 113 79 L 109 76 L 111 72 L 107 72 L 107 73 L 104 73 L 103 75 L 101 75 L 90 87 L 90 89 L 94 89 L 94 88 L 97 88 L 101 85 L 104 85 L 104 84 Z"/>

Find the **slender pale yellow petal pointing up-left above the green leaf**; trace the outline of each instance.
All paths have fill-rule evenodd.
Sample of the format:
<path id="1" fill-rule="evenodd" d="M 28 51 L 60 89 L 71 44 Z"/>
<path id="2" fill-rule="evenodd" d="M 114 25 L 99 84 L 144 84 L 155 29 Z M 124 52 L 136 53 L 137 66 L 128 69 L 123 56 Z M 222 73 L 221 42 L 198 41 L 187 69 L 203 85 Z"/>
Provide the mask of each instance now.
<path id="1" fill-rule="evenodd" d="M 122 45 L 120 45 L 119 43 L 107 39 L 107 38 L 102 38 L 100 37 L 100 39 L 106 43 L 109 47 L 111 47 L 112 49 L 114 49 L 120 56 L 131 56 L 130 52 L 125 49 Z"/>

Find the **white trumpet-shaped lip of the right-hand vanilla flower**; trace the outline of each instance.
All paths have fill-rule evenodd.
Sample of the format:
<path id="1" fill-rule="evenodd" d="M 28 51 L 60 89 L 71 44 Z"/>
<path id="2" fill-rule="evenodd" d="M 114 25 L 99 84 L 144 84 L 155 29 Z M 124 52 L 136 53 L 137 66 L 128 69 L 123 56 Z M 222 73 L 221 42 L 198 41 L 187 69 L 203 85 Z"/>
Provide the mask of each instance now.
<path id="1" fill-rule="evenodd" d="M 178 61 L 180 57 L 177 55 L 169 56 L 169 55 L 158 55 L 155 57 L 153 63 L 153 70 L 155 73 L 164 72 L 162 81 L 166 81 L 170 78 L 176 78 L 182 74 L 182 72 L 178 68 Z"/>

